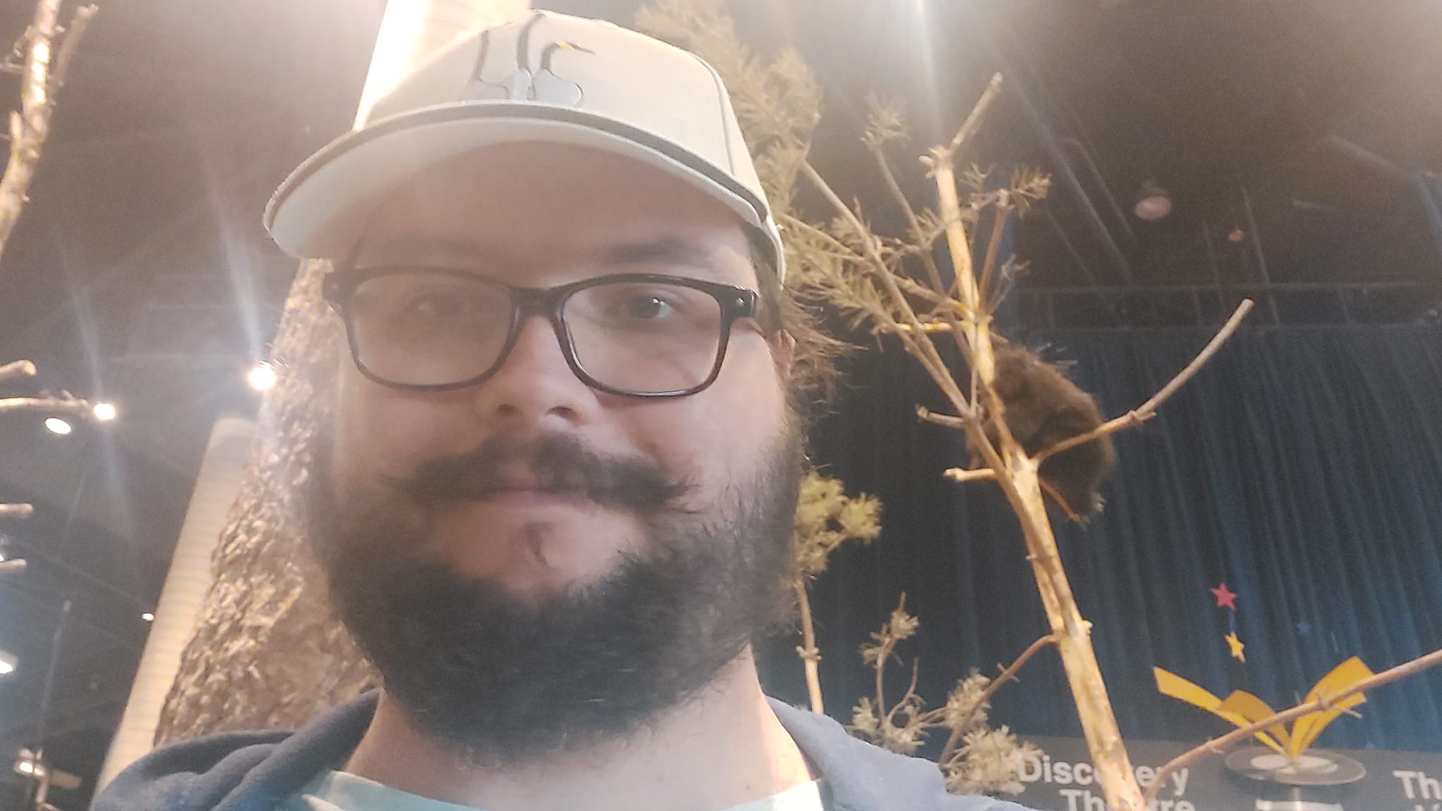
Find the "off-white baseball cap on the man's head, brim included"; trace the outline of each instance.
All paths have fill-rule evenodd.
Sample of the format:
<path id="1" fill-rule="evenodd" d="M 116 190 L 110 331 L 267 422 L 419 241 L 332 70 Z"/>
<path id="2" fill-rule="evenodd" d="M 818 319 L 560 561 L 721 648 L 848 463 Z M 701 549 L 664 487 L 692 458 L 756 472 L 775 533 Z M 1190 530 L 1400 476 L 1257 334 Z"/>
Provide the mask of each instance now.
<path id="1" fill-rule="evenodd" d="M 604 150 L 685 180 L 763 232 L 784 274 L 780 234 L 717 72 L 658 39 L 548 12 L 476 32 L 407 76 L 363 127 L 286 177 L 265 228 L 293 255 L 348 255 L 405 179 L 516 141 Z"/>

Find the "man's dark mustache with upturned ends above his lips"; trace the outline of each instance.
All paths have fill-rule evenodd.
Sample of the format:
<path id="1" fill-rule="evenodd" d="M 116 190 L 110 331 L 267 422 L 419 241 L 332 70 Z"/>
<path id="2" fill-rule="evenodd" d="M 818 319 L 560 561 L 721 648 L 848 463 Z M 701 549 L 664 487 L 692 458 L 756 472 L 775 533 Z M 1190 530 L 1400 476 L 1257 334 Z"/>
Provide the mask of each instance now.
<path id="1" fill-rule="evenodd" d="M 428 459 L 391 485 L 423 504 L 470 501 L 513 489 L 518 472 L 526 486 L 637 512 L 666 509 L 689 489 L 650 460 L 603 456 L 568 434 L 497 434 L 467 453 Z"/>

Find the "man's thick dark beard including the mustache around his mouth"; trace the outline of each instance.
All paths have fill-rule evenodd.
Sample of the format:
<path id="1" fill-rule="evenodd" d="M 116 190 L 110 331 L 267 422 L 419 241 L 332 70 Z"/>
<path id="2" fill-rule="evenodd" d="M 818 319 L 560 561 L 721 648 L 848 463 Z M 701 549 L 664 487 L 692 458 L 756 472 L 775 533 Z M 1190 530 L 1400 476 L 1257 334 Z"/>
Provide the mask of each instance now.
<path id="1" fill-rule="evenodd" d="M 508 455 L 538 481 L 634 511 L 643 551 L 541 605 L 417 554 L 425 505 L 483 492 Z M 676 508 L 685 488 L 647 462 L 564 437 L 499 440 L 424 465 L 382 499 L 330 498 L 317 476 L 310 525 L 332 605 L 411 723 L 472 762 L 515 763 L 633 735 L 787 619 L 800 460 L 789 430 L 699 514 Z"/>

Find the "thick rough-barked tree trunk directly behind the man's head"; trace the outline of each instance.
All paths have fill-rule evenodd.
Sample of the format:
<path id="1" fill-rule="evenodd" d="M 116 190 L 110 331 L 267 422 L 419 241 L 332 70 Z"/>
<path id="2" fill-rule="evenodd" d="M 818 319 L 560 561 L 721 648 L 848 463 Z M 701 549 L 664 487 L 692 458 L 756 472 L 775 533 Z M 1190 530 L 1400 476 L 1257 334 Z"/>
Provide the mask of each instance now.
<path id="1" fill-rule="evenodd" d="M 362 91 L 371 102 L 460 33 L 513 19 L 526 0 L 392 0 Z M 156 743 L 284 729 L 355 697 L 372 675 L 332 618 L 290 499 L 330 414 L 339 326 L 320 300 L 326 263 L 301 263 L 273 345 L 281 378 L 215 553 L 215 583 L 166 698 Z"/>

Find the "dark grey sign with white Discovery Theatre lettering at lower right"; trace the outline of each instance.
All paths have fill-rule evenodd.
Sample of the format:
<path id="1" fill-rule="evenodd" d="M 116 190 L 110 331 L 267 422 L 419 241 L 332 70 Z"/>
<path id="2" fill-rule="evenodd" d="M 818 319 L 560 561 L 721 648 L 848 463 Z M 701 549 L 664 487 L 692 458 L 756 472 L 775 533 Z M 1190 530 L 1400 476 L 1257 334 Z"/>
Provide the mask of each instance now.
<path id="1" fill-rule="evenodd" d="M 1110 811 L 1096 781 L 1086 742 L 1079 737 L 1027 737 L 1044 755 L 1021 771 L 1027 789 L 1007 797 L 1038 811 Z M 1146 789 L 1156 769 L 1191 749 L 1188 743 L 1131 740 L 1126 750 L 1136 782 Z M 1311 788 L 1256 781 L 1203 758 L 1164 778 L 1151 811 L 1442 811 L 1442 752 L 1334 750 L 1366 768 L 1348 785 Z"/>

